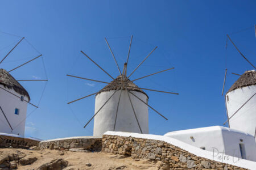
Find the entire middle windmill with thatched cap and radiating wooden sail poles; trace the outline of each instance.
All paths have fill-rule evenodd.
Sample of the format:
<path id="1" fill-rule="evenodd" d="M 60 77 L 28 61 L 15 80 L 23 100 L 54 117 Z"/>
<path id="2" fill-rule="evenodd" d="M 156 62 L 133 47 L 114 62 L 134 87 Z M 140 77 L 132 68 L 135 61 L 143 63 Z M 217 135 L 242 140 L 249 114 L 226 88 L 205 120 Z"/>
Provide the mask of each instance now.
<path id="1" fill-rule="evenodd" d="M 80 99 L 76 99 L 70 101 L 68 104 L 71 104 L 75 101 L 84 99 L 85 97 L 89 97 L 92 95 L 96 95 L 95 97 L 95 113 L 92 118 L 86 123 L 84 128 L 89 124 L 90 121 L 94 118 L 94 136 L 101 136 L 106 131 L 127 131 L 134 133 L 148 133 L 148 107 L 153 111 L 158 113 L 160 116 L 165 118 L 162 114 L 148 105 L 148 95 L 143 90 L 162 92 L 167 94 L 175 94 L 174 92 L 166 92 L 159 90 L 151 90 L 148 88 L 138 87 L 134 84 L 136 80 L 146 78 L 151 75 L 155 75 L 158 73 L 162 73 L 164 71 L 172 70 L 174 67 L 162 71 L 158 71 L 156 73 L 152 73 L 146 76 L 142 76 L 141 78 L 130 80 L 130 76 L 142 65 L 142 63 L 154 52 L 157 46 L 143 59 L 141 63 L 127 76 L 127 65 L 129 62 L 129 55 L 131 49 L 131 42 L 133 40 L 133 36 L 131 36 L 129 52 L 127 55 L 127 61 L 124 63 L 123 71 L 119 69 L 118 63 L 115 59 L 115 56 L 110 48 L 108 41 L 105 38 L 105 41 L 112 53 L 114 61 L 117 65 L 119 75 L 117 78 L 113 78 L 109 73 L 107 73 L 101 66 L 99 66 L 96 62 L 94 62 L 89 56 L 87 56 L 84 52 L 85 57 L 90 59 L 95 65 L 97 65 L 104 73 L 106 73 L 110 78 L 112 78 L 112 82 L 102 82 L 100 80 L 82 78 L 75 75 L 67 75 L 72 76 L 74 78 L 91 80 L 94 82 L 106 83 L 107 85 L 102 88 L 102 90 L 90 94 L 88 96 L 81 97 Z"/>

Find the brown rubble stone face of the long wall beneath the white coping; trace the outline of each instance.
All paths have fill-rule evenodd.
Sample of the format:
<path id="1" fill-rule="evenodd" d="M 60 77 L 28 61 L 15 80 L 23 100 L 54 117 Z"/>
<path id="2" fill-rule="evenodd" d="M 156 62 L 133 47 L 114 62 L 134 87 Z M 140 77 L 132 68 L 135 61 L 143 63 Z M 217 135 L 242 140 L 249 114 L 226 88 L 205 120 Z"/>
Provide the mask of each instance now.
<path id="1" fill-rule="evenodd" d="M 118 135 L 103 135 L 102 151 L 131 155 L 133 159 L 162 161 L 170 169 L 245 169 L 201 158 L 163 141 Z"/>

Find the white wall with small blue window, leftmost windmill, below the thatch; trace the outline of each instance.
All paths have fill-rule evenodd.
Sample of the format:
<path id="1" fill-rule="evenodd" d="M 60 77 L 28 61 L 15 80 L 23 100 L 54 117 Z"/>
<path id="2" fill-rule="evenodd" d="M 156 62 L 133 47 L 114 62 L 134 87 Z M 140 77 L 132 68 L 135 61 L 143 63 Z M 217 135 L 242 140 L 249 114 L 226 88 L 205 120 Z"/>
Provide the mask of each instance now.
<path id="1" fill-rule="evenodd" d="M 0 87 L 5 88 L 0 84 Z M 11 126 L 15 128 L 24 118 L 26 118 L 27 114 L 27 103 L 25 101 L 21 101 L 18 97 L 6 92 L 5 90 L 2 90 L 0 88 L 0 105 L 3 109 L 3 112 L 5 112 L 6 117 L 8 118 Z M 13 89 L 5 88 L 6 90 L 12 92 L 13 94 L 17 96 L 21 96 L 17 92 L 15 92 Z M 26 96 L 24 96 L 24 100 L 28 100 Z M 19 109 L 19 115 L 15 114 L 15 108 Z M 6 121 L 6 118 L 3 116 L 2 111 L 0 111 L 0 132 L 1 133 L 9 133 L 9 134 L 19 134 L 20 136 L 24 136 L 25 131 L 25 123 L 26 120 L 20 123 L 19 126 L 17 126 L 13 131 L 11 131 L 11 128 Z"/>

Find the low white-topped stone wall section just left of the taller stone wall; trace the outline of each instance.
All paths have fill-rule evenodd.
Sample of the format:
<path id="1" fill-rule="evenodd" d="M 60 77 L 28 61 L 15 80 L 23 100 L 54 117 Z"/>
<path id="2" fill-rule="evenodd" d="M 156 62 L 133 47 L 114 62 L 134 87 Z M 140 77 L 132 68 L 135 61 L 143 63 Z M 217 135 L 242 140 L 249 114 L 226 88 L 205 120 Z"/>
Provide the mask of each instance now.
<path id="1" fill-rule="evenodd" d="M 90 151 L 101 151 L 102 138 L 101 137 L 72 137 L 60 138 L 39 143 L 40 149 L 69 149 L 69 148 L 82 148 Z"/>

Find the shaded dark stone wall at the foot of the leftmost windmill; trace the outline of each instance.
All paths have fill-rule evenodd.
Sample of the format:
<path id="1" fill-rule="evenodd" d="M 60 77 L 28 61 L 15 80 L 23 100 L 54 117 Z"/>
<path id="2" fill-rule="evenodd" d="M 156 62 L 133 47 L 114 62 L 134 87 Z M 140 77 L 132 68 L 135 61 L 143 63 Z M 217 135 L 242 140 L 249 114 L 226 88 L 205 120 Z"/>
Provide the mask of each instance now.
<path id="1" fill-rule="evenodd" d="M 40 141 L 35 141 L 28 138 L 11 137 L 0 135 L 0 147 L 15 147 L 15 148 L 30 148 L 31 146 L 38 146 Z"/>

